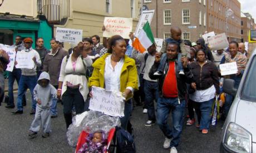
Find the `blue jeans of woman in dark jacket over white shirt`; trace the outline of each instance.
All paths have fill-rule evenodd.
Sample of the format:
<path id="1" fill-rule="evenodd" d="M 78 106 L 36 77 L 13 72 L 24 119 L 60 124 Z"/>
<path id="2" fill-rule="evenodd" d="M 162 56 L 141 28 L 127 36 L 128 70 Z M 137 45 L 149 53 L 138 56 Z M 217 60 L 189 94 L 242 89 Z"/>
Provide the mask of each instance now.
<path id="1" fill-rule="evenodd" d="M 209 129 L 213 101 L 214 99 L 200 103 L 194 101 L 195 113 L 198 116 L 198 124 L 200 124 L 200 130 Z"/>

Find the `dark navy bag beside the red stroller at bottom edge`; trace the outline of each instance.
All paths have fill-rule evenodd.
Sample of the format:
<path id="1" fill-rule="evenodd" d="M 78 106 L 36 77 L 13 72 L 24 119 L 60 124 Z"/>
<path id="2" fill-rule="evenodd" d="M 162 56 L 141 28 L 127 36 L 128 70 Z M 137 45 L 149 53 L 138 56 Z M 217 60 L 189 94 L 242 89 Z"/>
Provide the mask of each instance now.
<path id="1" fill-rule="evenodd" d="M 131 134 L 122 127 L 116 127 L 117 152 L 135 153 L 135 142 Z"/>

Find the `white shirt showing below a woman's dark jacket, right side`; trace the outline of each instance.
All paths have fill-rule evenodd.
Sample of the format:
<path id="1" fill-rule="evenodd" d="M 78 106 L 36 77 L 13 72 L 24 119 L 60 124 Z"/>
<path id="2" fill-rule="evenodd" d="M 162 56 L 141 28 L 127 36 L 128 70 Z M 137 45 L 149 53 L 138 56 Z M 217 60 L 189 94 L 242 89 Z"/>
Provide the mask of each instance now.
<path id="1" fill-rule="evenodd" d="M 189 98 L 196 102 L 204 102 L 215 97 L 216 89 L 214 85 L 211 85 L 210 88 L 205 90 L 195 90 L 193 94 L 189 95 Z"/>

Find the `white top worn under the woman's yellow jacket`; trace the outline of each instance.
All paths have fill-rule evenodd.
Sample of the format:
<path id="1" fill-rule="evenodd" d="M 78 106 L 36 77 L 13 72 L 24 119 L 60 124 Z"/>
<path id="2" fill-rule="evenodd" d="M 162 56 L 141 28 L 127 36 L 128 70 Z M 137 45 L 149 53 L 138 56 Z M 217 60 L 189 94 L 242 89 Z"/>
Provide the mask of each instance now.
<path id="1" fill-rule="evenodd" d="M 122 67 L 124 66 L 124 58 L 121 58 L 120 61 L 117 62 L 115 68 L 113 68 L 111 65 L 111 55 L 105 59 L 105 63 L 105 89 L 107 91 L 120 91 L 120 75 Z M 128 86 L 126 89 L 133 91 L 133 88 L 130 86 Z"/>

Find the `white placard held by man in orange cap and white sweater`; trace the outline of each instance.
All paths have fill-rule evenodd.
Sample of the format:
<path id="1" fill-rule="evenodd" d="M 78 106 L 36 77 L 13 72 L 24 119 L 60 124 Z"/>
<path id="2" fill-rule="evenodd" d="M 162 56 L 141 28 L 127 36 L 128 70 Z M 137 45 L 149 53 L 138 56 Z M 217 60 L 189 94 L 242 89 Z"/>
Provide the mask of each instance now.
<path id="1" fill-rule="evenodd" d="M 32 59 L 31 54 L 27 52 L 17 52 L 16 54 L 16 61 L 17 65 L 16 68 L 26 68 L 26 69 L 33 69 L 35 67 L 35 62 Z"/>

